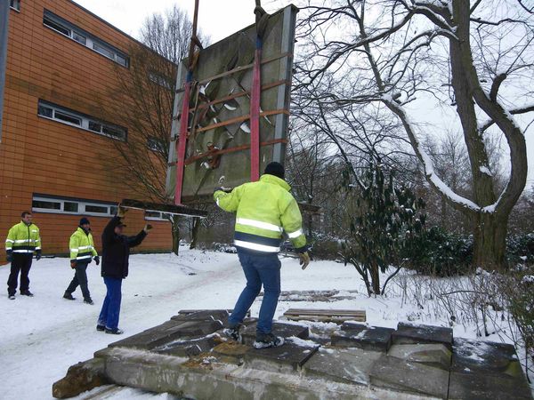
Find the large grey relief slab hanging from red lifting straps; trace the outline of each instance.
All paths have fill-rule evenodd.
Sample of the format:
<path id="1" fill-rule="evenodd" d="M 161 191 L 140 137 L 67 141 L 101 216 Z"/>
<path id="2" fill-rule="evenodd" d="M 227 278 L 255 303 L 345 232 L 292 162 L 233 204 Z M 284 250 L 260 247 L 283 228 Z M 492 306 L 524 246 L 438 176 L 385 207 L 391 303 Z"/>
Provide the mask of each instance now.
<path id="1" fill-rule="evenodd" d="M 283 163 L 295 19 L 293 5 L 269 18 L 263 35 L 260 100 L 260 171 L 271 161 Z M 228 21 L 231 23 L 231 21 Z M 189 139 L 184 161 L 182 202 L 213 194 L 218 180 L 236 187 L 250 180 L 250 93 L 255 59 L 255 25 L 242 29 L 198 54 L 190 92 Z M 174 195 L 176 140 L 179 137 L 187 60 L 178 70 L 166 189 Z"/>

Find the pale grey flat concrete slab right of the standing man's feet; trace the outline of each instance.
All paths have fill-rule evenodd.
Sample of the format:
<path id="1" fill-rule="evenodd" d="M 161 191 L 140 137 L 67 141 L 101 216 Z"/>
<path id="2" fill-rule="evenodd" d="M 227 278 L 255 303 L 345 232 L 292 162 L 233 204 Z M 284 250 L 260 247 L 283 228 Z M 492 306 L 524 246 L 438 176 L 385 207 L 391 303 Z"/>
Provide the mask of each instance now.
<path id="1" fill-rule="evenodd" d="M 305 376 L 357 385 L 369 384 L 369 372 L 381 352 L 361 348 L 319 348 L 306 364 Z"/>

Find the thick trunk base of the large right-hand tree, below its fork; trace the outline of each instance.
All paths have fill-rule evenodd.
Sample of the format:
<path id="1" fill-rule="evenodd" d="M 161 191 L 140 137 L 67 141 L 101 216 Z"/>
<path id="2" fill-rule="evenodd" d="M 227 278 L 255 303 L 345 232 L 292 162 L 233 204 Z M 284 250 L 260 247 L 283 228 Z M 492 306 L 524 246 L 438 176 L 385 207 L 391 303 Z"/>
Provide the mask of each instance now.
<path id="1" fill-rule="evenodd" d="M 478 213 L 473 218 L 473 267 L 490 271 L 505 267 L 506 220 L 488 212 Z"/>

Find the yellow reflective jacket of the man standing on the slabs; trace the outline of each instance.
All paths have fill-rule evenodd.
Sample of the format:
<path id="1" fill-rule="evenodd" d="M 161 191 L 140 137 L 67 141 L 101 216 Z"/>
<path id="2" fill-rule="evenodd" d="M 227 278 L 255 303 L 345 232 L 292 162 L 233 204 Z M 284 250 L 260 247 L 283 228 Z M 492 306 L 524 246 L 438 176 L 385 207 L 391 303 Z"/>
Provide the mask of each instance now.
<path id="1" fill-rule="evenodd" d="M 282 232 L 295 246 L 306 251 L 303 218 L 285 180 L 264 174 L 259 181 L 245 183 L 231 193 L 217 190 L 214 199 L 227 212 L 237 212 L 234 244 L 257 252 L 279 252 Z"/>

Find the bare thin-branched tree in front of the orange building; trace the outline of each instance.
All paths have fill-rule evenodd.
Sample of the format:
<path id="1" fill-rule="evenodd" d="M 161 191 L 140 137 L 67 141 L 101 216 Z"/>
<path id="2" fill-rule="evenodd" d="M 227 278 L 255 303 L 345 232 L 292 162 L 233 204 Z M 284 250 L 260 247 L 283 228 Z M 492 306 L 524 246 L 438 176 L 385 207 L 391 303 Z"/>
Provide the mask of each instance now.
<path id="1" fill-rule="evenodd" d="M 129 128 L 127 140 L 114 141 L 119 155 L 112 160 L 116 176 L 143 200 L 172 204 L 166 193 L 166 163 L 173 119 L 178 63 L 187 56 L 192 24 L 177 6 L 145 20 L 141 42 L 128 49 L 130 69 L 115 67 L 116 86 L 110 88 L 115 108 L 104 113 Z M 108 104 L 108 102 L 106 102 Z M 169 216 L 173 251 L 180 242 L 179 217 Z M 192 228 L 196 228 L 198 219 Z"/>

